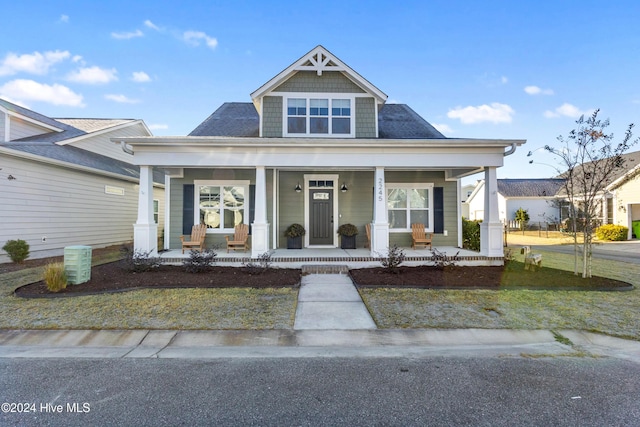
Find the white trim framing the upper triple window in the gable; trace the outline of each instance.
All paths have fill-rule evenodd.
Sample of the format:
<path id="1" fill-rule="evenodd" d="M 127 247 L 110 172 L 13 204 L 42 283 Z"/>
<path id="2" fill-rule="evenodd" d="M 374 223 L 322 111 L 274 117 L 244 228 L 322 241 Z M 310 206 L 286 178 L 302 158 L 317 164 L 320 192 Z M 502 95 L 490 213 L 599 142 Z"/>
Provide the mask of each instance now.
<path id="1" fill-rule="evenodd" d="M 315 93 L 315 92 L 290 92 L 279 94 L 282 96 L 282 135 L 286 138 L 355 138 L 356 136 L 356 94 L 353 93 Z M 288 101 L 289 99 L 304 99 L 306 101 L 306 129 L 305 133 L 289 133 L 288 127 Z M 342 118 L 345 116 L 334 116 L 332 114 L 333 101 L 336 99 L 349 100 L 351 114 L 349 115 L 349 133 L 311 133 L 311 100 L 312 99 L 326 99 L 329 101 L 329 115 L 326 117 L 328 121 L 329 130 L 333 130 L 333 119 Z M 301 117 L 301 116 L 292 116 Z"/>

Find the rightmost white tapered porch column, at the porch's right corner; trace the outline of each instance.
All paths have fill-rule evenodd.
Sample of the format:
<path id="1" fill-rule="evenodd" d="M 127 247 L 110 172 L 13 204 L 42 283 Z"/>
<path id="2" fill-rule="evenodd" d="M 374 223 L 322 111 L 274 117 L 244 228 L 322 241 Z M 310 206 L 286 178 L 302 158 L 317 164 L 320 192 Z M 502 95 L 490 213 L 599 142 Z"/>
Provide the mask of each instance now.
<path id="1" fill-rule="evenodd" d="M 484 171 L 484 219 L 480 224 L 480 253 L 502 257 L 502 223 L 498 215 L 498 178 L 495 167 Z"/>

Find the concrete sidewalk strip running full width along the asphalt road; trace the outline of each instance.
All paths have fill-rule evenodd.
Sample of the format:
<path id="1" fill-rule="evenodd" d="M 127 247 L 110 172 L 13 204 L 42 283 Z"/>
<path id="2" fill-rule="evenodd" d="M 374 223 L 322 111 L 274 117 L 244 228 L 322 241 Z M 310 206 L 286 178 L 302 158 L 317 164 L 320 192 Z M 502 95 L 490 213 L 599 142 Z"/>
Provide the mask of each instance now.
<path id="1" fill-rule="evenodd" d="M 0 331 L 10 358 L 598 356 L 640 363 L 640 342 L 582 331 L 488 329 Z"/>

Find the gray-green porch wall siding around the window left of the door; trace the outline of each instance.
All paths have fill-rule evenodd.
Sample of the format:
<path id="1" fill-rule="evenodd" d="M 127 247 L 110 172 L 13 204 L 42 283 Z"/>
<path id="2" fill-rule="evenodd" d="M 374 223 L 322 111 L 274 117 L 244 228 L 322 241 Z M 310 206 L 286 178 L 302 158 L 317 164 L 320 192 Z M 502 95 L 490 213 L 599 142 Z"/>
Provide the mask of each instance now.
<path id="1" fill-rule="evenodd" d="M 267 170 L 267 221 L 273 227 L 273 171 Z M 182 235 L 183 219 L 183 186 L 193 184 L 195 180 L 248 180 L 251 185 L 255 184 L 255 170 L 253 169 L 185 169 L 184 178 L 171 179 L 170 184 L 170 224 L 169 224 L 169 247 L 172 249 L 181 248 L 180 236 Z M 252 200 L 251 203 L 254 201 Z M 226 251 L 226 241 L 224 239 L 228 233 L 207 234 L 205 244 L 207 248 L 218 247 L 218 251 Z M 271 238 L 271 236 L 269 236 Z M 270 245 L 270 244 L 269 244 Z"/>

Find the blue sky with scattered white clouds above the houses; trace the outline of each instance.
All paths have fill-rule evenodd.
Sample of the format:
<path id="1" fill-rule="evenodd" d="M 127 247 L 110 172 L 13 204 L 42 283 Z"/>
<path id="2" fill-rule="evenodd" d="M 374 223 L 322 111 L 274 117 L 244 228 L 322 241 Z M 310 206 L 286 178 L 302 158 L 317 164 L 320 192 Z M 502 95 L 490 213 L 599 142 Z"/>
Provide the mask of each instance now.
<path id="1" fill-rule="evenodd" d="M 23 0 L 3 12 L 0 97 L 51 117 L 186 135 L 321 44 L 448 137 L 526 139 L 500 178 L 553 175 L 553 157 L 526 154 L 582 113 L 600 108 L 618 138 L 640 124 L 635 0 Z"/>

